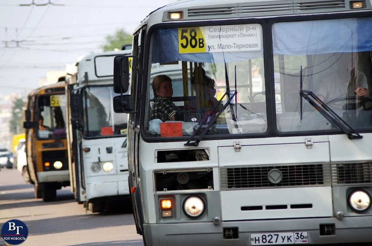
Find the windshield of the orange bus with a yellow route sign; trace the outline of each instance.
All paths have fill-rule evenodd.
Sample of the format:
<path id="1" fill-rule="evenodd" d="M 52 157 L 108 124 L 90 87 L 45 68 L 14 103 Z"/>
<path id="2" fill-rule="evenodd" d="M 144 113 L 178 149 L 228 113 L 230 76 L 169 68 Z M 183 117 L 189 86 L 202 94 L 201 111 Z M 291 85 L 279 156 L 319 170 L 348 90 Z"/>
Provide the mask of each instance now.
<path id="1" fill-rule="evenodd" d="M 42 95 L 38 99 L 38 127 L 39 138 L 65 138 L 66 97 L 64 94 Z"/>

